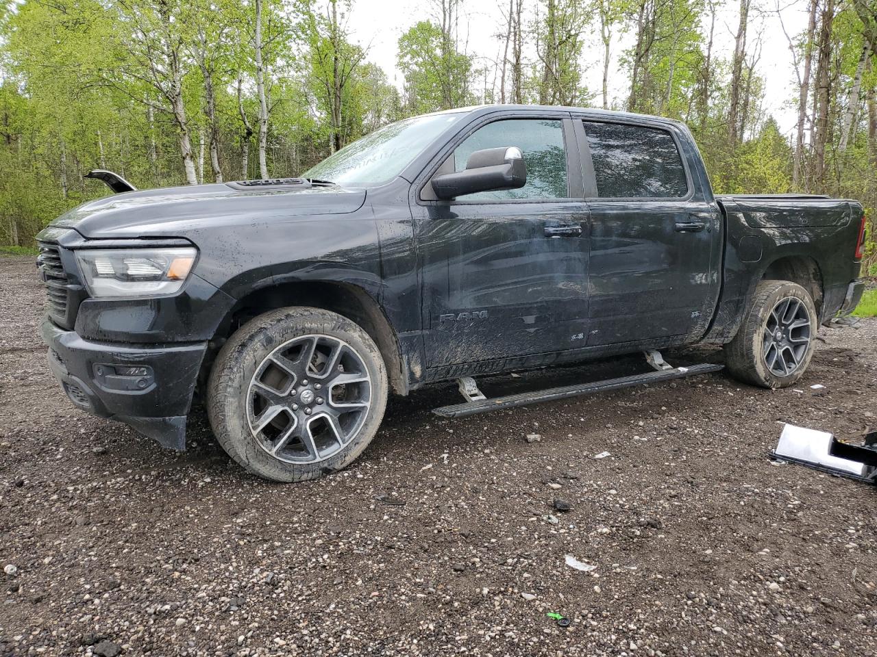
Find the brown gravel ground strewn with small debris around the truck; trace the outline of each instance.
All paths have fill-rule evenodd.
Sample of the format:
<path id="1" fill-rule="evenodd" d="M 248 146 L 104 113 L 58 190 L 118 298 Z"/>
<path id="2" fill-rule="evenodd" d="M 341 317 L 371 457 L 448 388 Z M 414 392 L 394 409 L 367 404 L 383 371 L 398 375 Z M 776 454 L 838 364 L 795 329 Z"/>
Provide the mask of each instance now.
<path id="1" fill-rule="evenodd" d="M 75 410 L 30 258 L 0 278 L 0 654 L 877 653 L 873 489 L 766 456 L 782 421 L 877 426 L 877 321 L 824 329 L 795 389 L 718 374 L 460 420 L 430 413 L 453 386 L 417 392 L 351 468 L 284 486 L 203 416 L 175 454 Z"/>

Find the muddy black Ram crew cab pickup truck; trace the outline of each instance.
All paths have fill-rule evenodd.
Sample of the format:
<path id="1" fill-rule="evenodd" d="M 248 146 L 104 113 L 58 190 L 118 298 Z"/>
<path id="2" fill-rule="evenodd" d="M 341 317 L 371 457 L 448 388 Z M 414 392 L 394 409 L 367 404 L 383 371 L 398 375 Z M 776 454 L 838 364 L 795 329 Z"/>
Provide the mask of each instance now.
<path id="1" fill-rule="evenodd" d="M 488 106 L 388 125 L 302 178 L 122 191 L 39 236 L 42 336 L 75 404 L 184 449 L 193 399 L 278 481 L 372 440 L 389 392 L 723 344 L 753 385 L 802 376 L 862 291 L 865 217 L 824 196 L 715 196 L 688 129 L 592 109 Z M 130 190 L 130 191 L 125 191 Z M 712 367 L 715 369 L 715 366 Z M 591 386 L 590 389 L 594 389 Z"/>

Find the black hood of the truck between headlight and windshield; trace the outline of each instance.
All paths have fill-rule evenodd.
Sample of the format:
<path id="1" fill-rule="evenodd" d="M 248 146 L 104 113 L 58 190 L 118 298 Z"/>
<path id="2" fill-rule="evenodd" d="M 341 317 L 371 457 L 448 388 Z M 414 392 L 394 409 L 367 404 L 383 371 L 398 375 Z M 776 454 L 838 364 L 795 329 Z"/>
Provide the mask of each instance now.
<path id="1" fill-rule="evenodd" d="M 185 237 L 217 225 L 346 214 L 365 200 L 363 189 L 334 185 L 295 190 L 239 190 L 224 183 L 163 187 L 89 201 L 49 225 L 89 238 Z"/>

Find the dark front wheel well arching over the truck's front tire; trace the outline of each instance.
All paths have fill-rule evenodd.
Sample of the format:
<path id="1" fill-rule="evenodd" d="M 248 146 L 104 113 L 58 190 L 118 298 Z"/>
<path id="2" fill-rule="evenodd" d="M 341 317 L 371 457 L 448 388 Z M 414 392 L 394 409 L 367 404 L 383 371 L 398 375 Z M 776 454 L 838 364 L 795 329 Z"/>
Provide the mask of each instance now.
<path id="1" fill-rule="evenodd" d="M 407 393 L 408 379 L 403 372 L 396 332 L 377 302 L 361 287 L 323 281 L 263 287 L 240 299 L 225 316 L 225 320 L 217 329 L 216 336 L 210 341 L 210 353 L 205 357 L 202 366 L 203 380 L 210 375 L 217 352 L 236 330 L 253 317 L 288 306 L 310 306 L 331 310 L 355 321 L 371 336 L 378 350 L 381 351 L 391 390 L 396 394 Z"/>

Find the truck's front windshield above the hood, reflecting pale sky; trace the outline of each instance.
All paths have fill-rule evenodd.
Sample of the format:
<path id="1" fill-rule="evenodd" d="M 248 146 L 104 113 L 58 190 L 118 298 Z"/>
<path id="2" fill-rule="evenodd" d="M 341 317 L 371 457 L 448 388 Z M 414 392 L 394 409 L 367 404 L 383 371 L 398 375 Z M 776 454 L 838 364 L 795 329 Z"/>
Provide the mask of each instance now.
<path id="1" fill-rule="evenodd" d="M 433 114 L 385 125 L 312 166 L 302 177 L 330 180 L 345 187 L 376 187 L 389 182 L 462 115 Z"/>

